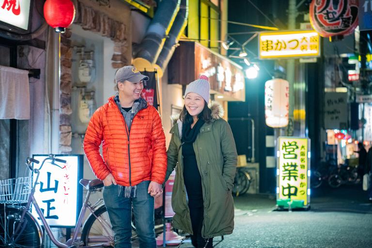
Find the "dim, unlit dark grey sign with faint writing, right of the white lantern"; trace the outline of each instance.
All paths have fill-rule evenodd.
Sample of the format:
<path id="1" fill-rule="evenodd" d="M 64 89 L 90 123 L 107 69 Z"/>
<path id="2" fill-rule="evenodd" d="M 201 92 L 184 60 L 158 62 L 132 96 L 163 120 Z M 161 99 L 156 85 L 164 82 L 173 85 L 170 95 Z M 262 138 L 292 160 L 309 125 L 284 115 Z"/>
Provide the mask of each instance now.
<path id="1" fill-rule="evenodd" d="M 347 129 L 347 93 L 325 93 L 324 127 L 325 129 Z"/>

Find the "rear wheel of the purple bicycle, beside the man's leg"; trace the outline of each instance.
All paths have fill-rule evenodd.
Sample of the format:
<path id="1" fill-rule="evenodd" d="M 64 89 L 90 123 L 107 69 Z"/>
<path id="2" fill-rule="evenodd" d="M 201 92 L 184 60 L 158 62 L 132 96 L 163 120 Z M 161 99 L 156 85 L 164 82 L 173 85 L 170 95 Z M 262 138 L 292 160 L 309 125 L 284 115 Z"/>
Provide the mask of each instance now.
<path id="1" fill-rule="evenodd" d="M 106 206 L 100 206 L 85 221 L 81 241 L 84 246 L 114 247 L 114 232 Z"/>

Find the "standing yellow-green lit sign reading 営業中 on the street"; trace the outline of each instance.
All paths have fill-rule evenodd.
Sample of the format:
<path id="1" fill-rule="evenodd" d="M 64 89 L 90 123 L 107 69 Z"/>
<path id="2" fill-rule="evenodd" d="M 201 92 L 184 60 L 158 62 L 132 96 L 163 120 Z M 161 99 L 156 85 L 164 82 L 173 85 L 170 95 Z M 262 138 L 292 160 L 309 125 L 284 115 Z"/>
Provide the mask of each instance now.
<path id="1" fill-rule="evenodd" d="M 296 137 L 279 137 L 279 162 L 277 172 L 277 200 L 310 200 L 310 140 Z"/>

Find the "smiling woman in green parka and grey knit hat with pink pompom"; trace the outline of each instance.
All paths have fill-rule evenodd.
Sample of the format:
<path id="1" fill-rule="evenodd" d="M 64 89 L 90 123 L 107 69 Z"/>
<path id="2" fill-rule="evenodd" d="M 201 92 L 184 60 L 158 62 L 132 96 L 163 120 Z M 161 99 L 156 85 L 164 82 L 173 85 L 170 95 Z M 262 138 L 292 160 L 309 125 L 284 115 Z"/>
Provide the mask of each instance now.
<path id="1" fill-rule="evenodd" d="M 176 168 L 173 227 L 190 233 L 197 248 L 213 247 L 213 237 L 231 234 L 234 228 L 235 141 L 230 125 L 221 119 L 222 107 L 213 102 L 208 108 L 209 91 L 203 75 L 187 86 L 167 151 L 166 180 Z"/>

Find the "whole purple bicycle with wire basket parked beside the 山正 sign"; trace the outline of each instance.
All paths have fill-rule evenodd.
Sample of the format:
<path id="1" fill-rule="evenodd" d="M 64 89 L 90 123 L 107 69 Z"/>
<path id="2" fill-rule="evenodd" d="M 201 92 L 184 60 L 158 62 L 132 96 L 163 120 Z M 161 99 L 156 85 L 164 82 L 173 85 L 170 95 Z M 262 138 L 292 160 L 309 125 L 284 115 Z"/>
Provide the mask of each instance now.
<path id="1" fill-rule="evenodd" d="M 92 192 L 101 191 L 103 188 L 102 181 L 81 179 L 79 183 L 84 186 L 88 192 L 85 196 L 85 201 L 81 208 L 76 228 L 72 238 L 65 244 L 57 241 L 41 211 L 36 199 L 34 198 L 35 188 L 38 185 L 40 170 L 47 160 L 51 160 L 51 164 L 60 167 L 54 162 L 66 163 L 65 160 L 55 158 L 55 155 L 49 155 L 43 160 L 39 169 L 33 169 L 32 163 L 39 164 L 39 161 L 33 158 L 27 158 L 26 165 L 31 172 L 36 173 L 35 182 L 32 183 L 33 177 L 20 177 L 0 181 L 0 203 L 4 204 L 4 211 L 0 214 L 0 247 L 4 248 L 42 248 L 44 244 L 43 232 L 29 210 L 31 203 L 36 209 L 36 213 L 43 223 L 44 229 L 47 232 L 50 240 L 59 248 L 93 248 L 93 247 L 113 247 L 114 235 L 111 229 L 109 216 L 103 199 L 98 199 L 92 204 L 89 202 L 89 197 Z M 61 167 L 60 167 L 61 168 Z M 6 204 L 21 204 L 25 206 L 6 205 Z M 83 217 L 86 210 L 91 211 L 90 216 L 84 222 L 81 236 L 78 237 Z"/>

